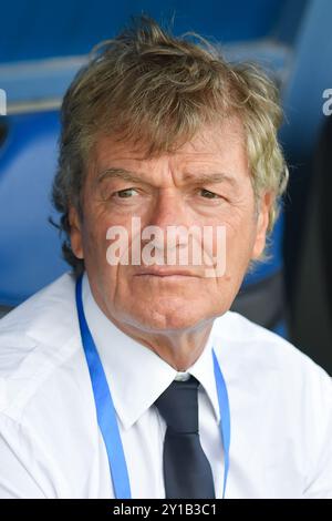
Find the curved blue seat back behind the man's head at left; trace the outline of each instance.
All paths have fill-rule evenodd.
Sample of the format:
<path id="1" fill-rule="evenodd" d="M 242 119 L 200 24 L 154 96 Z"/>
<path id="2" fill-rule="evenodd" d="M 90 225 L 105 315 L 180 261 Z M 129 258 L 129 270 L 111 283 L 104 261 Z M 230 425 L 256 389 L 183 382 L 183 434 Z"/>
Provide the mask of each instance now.
<path id="1" fill-rule="evenodd" d="M 58 231 L 48 222 L 59 113 L 8 120 L 0 154 L 0 304 L 15 306 L 68 267 Z"/>

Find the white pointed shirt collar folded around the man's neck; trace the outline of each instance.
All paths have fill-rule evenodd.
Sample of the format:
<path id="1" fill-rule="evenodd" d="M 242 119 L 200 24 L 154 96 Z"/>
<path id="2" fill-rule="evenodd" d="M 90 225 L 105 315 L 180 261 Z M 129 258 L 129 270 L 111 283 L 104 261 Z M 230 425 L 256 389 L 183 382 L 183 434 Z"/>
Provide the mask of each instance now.
<path id="1" fill-rule="evenodd" d="M 101 310 L 83 276 L 85 318 L 98 350 L 116 412 L 125 429 L 156 401 L 177 376 L 177 370 L 148 347 L 118 329 Z M 214 328 L 212 328 L 214 330 Z M 187 372 L 200 382 L 220 421 L 211 356 L 212 330 L 199 358 Z"/>

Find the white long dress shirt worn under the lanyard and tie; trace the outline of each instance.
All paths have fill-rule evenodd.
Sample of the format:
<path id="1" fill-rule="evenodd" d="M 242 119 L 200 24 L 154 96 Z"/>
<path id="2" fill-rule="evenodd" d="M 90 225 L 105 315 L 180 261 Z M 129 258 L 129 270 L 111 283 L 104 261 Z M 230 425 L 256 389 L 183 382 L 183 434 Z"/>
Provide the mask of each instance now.
<path id="1" fill-rule="evenodd" d="M 184 375 L 105 317 L 86 275 L 83 305 L 112 391 L 132 497 L 165 498 L 166 426 L 154 402 Z M 216 497 L 224 453 L 212 347 L 230 402 L 226 498 L 332 498 L 331 378 L 291 344 L 231 311 L 215 320 L 187 371 L 200 382 L 200 440 Z M 71 274 L 0 321 L 0 498 L 114 498 Z"/>

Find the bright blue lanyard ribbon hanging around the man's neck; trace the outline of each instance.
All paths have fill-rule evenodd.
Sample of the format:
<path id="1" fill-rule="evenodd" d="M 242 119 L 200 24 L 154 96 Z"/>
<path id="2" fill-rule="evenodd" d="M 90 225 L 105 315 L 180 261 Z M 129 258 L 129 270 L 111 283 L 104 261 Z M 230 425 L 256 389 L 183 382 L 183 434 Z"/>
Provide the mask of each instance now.
<path id="1" fill-rule="evenodd" d="M 80 330 L 82 337 L 83 349 L 89 367 L 90 378 L 92 382 L 92 389 L 94 395 L 96 415 L 98 426 L 104 439 L 111 478 L 114 487 L 115 498 L 117 499 L 131 499 L 131 483 L 123 450 L 123 445 L 118 431 L 116 411 L 112 400 L 110 387 L 107 385 L 106 376 L 103 369 L 103 365 L 89 329 L 82 302 L 82 275 L 79 277 L 76 283 L 76 307 L 80 321 Z M 225 498 L 228 469 L 229 469 L 229 446 L 230 446 L 230 412 L 229 401 L 227 395 L 226 384 L 222 377 L 221 369 L 219 367 L 215 350 L 212 349 L 214 357 L 214 370 L 217 386 L 217 395 L 219 401 L 220 411 L 220 433 L 224 446 L 224 459 L 225 459 L 225 471 L 224 471 L 224 489 L 222 499 Z"/>

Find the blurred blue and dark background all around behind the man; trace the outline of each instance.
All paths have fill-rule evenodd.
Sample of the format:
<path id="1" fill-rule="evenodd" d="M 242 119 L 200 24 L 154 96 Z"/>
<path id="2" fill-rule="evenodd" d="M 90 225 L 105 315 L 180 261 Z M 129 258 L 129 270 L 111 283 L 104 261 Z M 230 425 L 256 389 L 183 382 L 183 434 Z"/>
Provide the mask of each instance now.
<path id="1" fill-rule="evenodd" d="M 220 42 L 229 60 L 260 63 L 278 84 L 290 185 L 272 259 L 246 277 L 232 309 L 332 375 L 332 115 L 323 111 L 332 109 L 331 0 L 1 2 L 0 316 L 69 269 L 48 222 L 56 221 L 61 100 L 91 48 L 142 12 L 174 20 L 175 34 Z"/>

